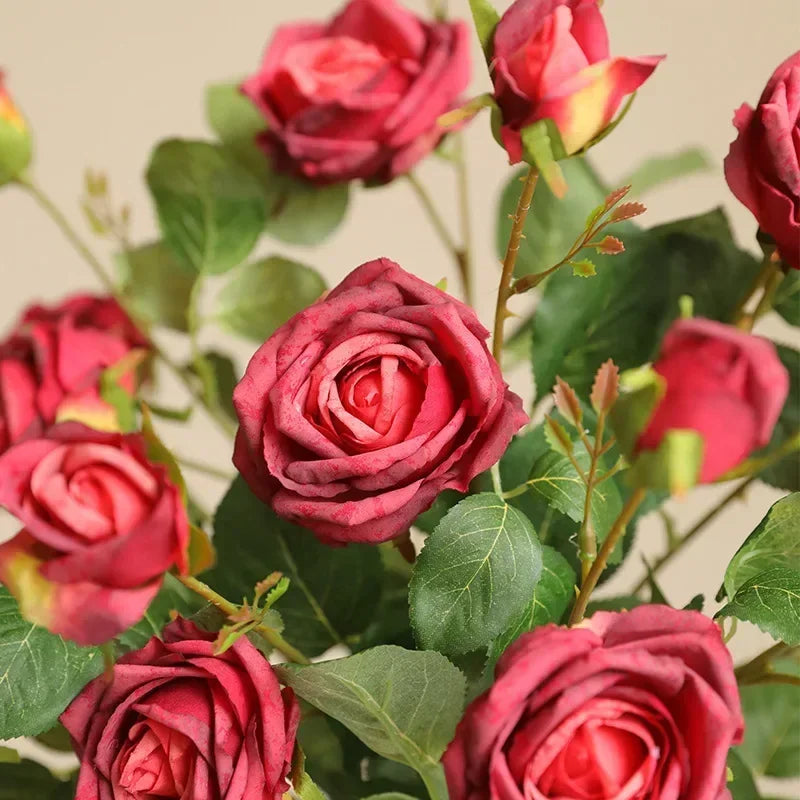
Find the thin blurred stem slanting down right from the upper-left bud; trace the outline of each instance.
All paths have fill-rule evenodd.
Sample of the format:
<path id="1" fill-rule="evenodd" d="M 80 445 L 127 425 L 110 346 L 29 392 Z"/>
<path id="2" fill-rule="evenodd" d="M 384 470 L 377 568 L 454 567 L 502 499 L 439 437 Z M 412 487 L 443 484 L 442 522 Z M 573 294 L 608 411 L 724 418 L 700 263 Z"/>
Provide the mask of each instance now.
<path id="1" fill-rule="evenodd" d="M 105 267 L 101 263 L 101 261 L 94 255 L 94 253 L 89 249 L 86 243 L 81 239 L 78 235 L 77 231 L 72 227 L 69 220 L 64 216 L 58 206 L 53 202 L 53 200 L 44 192 L 44 190 L 36 184 L 31 178 L 24 177 L 19 178 L 17 181 L 18 185 L 25 189 L 41 206 L 41 208 L 47 213 L 50 219 L 56 224 L 59 230 L 64 234 L 65 238 L 69 243 L 75 248 L 78 254 L 83 258 L 83 260 L 89 265 L 92 272 L 94 272 L 95 276 L 97 277 L 98 281 L 102 284 L 103 289 L 112 295 L 116 301 L 120 304 L 120 306 L 125 310 L 128 316 L 136 323 L 137 327 L 141 328 L 142 330 L 146 329 L 146 325 L 143 324 L 141 319 L 138 318 L 136 312 L 131 308 L 130 304 L 127 300 L 121 295 L 119 289 L 114 284 L 114 281 L 111 279 L 111 276 L 106 272 Z M 175 361 L 170 358 L 160 347 L 159 345 L 150 339 L 150 346 L 153 350 L 153 353 L 161 360 L 161 362 L 175 375 L 175 377 L 184 385 L 187 392 L 191 395 L 191 397 L 200 405 L 204 406 L 206 411 L 208 412 L 209 416 L 217 423 L 220 429 L 225 433 L 226 436 L 231 436 L 236 432 L 236 428 L 233 423 L 228 420 L 223 412 L 218 409 L 212 409 L 209 404 L 205 401 L 203 396 L 197 391 L 195 386 L 193 385 L 192 381 L 190 380 L 189 376 L 186 375 L 183 369 L 181 369 L 180 365 L 176 364 Z"/>

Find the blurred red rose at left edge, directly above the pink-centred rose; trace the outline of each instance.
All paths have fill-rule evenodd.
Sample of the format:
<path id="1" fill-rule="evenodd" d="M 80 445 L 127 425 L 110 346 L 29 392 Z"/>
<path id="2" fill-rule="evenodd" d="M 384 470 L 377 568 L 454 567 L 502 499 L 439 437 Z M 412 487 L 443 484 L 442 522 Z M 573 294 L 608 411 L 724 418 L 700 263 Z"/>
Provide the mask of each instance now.
<path id="1" fill-rule="evenodd" d="M 26 435 L 69 417 L 114 428 L 114 410 L 100 398 L 107 367 L 147 339 L 110 297 L 77 295 L 55 306 L 31 306 L 0 342 L 0 453 Z M 131 393 L 133 371 L 120 383 Z"/>

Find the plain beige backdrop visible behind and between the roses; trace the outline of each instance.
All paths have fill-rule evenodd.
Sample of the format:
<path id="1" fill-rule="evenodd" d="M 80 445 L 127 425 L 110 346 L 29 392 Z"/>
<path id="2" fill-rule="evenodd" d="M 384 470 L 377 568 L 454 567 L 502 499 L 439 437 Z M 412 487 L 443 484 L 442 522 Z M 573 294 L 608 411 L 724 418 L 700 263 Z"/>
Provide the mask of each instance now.
<path id="1" fill-rule="evenodd" d="M 424 0 L 406 4 L 425 8 Z M 35 130 L 39 181 L 90 237 L 77 203 L 83 170 L 106 170 L 114 196 L 132 204 L 134 240 L 154 237 L 142 180 L 153 143 L 166 136 L 207 136 L 205 84 L 254 69 L 280 22 L 327 16 L 337 6 L 334 0 L 0 0 L 0 64 Z M 450 7 L 453 14 L 468 15 L 467 0 L 450 0 Z M 701 145 L 715 168 L 653 192 L 646 198 L 647 222 L 722 204 L 740 242 L 754 247 L 753 220 L 728 192 L 721 161 L 733 137 L 733 110 L 744 101 L 755 102 L 774 67 L 800 46 L 798 0 L 608 0 L 604 10 L 615 54 L 667 53 L 668 59 L 640 91 L 625 123 L 593 152 L 601 172 L 613 182 L 646 156 Z M 477 46 L 474 71 L 474 90 L 483 91 L 488 81 Z M 469 130 L 468 146 L 479 310 L 489 323 L 497 278 L 495 203 L 508 167 L 486 117 Z M 431 163 L 420 174 L 454 222 L 448 169 Z M 92 244 L 104 258 L 110 255 L 104 242 Z M 355 192 L 346 224 L 323 247 L 307 251 L 260 243 L 259 252 L 272 251 L 315 264 L 331 283 L 362 261 L 385 255 L 431 281 L 446 275 L 451 287 L 458 286 L 447 255 L 402 183 Z M 3 328 L 25 303 L 94 287 L 86 266 L 60 233 L 27 197 L 10 188 L 0 191 L 0 275 Z M 781 324 L 772 324 L 771 331 L 784 340 L 792 336 Z M 207 336 L 209 341 L 220 338 L 215 331 Z M 250 345 L 237 344 L 242 361 L 251 351 Z M 519 391 L 529 392 L 526 370 L 515 376 L 515 383 Z M 173 390 L 167 386 L 168 394 Z M 191 432 L 168 430 L 166 435 L 184 452 L 228 463 L 229 445 L 199 417 Z M 224 488 L 202 479 L 195 485 L 209 506 Z M 673 504 L 681 528 L 720 495 L 719 490 L 702 489 Z M 663 586 L 674 604 L 701 590 L 713 598 L 728 558 L 777 497 L 773 490 L 754 489 L 664 571 Z M 0 520 L 0 535 L 12 530 L 10 520 Z M 638 540 L 646 552 L 660 549 L 657 520 L 648 520 Z M 639 559 L 631 558 L 612 588 L 624 591 L 640 570 Z M 707 610 L 714 607 L 712 600 Z M 763 642 L 757 632 L 740 626 L 732 648 L 746 657 Z"/>

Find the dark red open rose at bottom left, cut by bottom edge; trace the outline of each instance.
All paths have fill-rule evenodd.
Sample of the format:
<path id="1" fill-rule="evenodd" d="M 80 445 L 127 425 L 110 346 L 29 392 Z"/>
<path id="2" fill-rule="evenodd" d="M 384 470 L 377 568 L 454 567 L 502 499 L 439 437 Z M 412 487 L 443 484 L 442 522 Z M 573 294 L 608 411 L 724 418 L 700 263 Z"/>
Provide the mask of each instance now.
<path id="1" fill-rule="evenodd" d="M 246 638 L 178 619 L 92 681 L 61 715 L 81 769 L 78 800 L 280 800 L 300 718 Z"/>

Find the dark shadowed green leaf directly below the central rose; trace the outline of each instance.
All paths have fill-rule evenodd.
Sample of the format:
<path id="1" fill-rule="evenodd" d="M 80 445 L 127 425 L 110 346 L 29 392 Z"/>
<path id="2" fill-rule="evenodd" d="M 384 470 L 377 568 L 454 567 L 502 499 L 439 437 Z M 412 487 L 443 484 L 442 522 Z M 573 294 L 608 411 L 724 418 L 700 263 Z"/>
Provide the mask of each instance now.
<path id="1" fill-rule="evenodd" d="M 229 598 L 252 594 L 271 572 L 290 580 L 280 603 L 284 637 L 306 655 L 361 633 L 375 613 L 382 583 L 377 548 L 328 547 L 278 517 L 237 477 L 217 509 L 218 564 L 206 583 Z"/>

